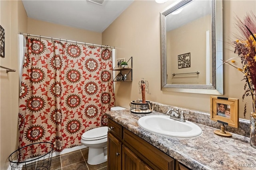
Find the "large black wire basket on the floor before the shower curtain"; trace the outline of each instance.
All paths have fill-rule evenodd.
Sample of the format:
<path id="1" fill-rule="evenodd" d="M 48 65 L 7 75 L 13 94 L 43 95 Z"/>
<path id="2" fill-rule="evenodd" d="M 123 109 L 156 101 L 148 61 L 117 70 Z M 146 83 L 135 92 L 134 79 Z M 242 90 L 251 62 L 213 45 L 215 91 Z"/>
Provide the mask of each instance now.
<path id="1" fill-rule="evenodd" d="M 39 142 L 15 150 L 9 156 L 11 170 L 50 170 L 52 146 L 49 142 Z"/>

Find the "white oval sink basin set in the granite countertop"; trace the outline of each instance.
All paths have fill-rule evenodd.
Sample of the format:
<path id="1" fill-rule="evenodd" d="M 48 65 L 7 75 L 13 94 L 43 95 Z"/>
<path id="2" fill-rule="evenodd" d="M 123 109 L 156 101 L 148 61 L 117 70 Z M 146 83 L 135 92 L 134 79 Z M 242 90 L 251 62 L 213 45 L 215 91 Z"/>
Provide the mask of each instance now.
<path id="1" fill-rule="evenodd" d="M 179 138 L 198 137 L 202 129 L 191 121 L 180 122 L 168 115 L 148 115 L 138 120 L 140 127 L 160 135 Z"/>

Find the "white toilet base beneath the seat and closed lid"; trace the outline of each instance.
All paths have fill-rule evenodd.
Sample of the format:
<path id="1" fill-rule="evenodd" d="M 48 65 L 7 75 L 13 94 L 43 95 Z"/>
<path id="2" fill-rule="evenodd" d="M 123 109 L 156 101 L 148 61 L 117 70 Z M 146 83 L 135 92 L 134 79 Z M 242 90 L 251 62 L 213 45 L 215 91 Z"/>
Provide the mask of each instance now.
<path id="1" fill-rule="evenodd" d="M 104 148 L 92 148 L 89 147 L 87 163 L 90 165 L 97 165 L 108 160 L 107 147 Z"/>

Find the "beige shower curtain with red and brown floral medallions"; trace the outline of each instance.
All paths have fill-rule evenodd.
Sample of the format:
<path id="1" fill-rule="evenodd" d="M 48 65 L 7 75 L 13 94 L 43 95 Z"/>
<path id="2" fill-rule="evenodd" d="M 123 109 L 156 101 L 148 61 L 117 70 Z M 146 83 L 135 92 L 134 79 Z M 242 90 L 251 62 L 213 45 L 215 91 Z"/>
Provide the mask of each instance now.
<path id="1" fill-rule="evenodd" d="M 55 151 L 81 145 L 81 136 L 106 126 L 114 106 L 112 53 L 27 37 L 19 101 L 19 148 L 51 142 Z M 21 155 L 21 160 L 31 156 Z"/>

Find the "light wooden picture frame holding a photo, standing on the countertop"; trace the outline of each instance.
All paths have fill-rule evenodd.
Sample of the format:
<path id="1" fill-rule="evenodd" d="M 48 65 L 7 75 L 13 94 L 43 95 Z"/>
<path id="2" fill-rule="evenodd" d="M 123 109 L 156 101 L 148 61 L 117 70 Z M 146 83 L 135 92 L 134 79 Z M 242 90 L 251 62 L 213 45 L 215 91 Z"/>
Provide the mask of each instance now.
<path id="1" fill-rule="evenodd" d="M 210 119 L 238 128 L 238 103 L 238 99 L 210 96 Z"/>

